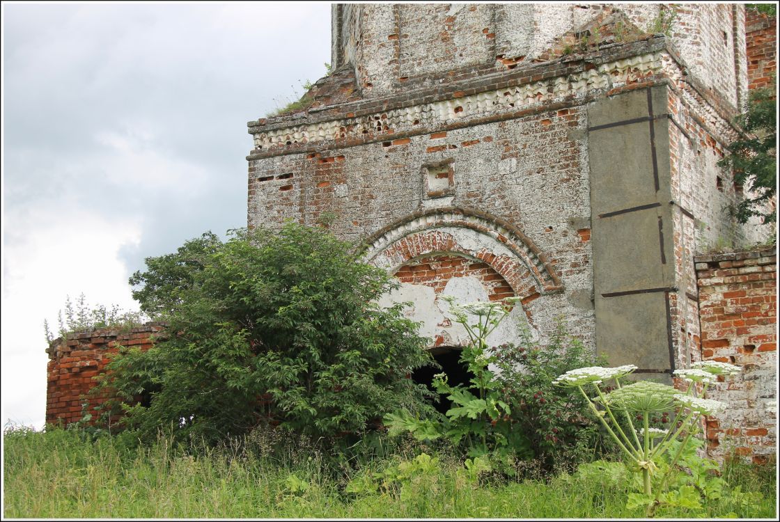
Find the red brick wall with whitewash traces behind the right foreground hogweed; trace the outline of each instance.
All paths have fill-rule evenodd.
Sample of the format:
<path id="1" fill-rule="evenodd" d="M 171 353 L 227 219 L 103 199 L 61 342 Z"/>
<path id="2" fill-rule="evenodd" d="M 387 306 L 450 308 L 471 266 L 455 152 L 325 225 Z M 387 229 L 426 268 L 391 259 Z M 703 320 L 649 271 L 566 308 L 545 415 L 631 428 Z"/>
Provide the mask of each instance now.
<path id="1" fill-rule="evenodd" d="M 707 397 L 729 409 L 707 420 L 707 452 L 764 462 L 776 452 L 777 257 L 774 250 L 697 256 L 701 358 L 743 369 Z"/>

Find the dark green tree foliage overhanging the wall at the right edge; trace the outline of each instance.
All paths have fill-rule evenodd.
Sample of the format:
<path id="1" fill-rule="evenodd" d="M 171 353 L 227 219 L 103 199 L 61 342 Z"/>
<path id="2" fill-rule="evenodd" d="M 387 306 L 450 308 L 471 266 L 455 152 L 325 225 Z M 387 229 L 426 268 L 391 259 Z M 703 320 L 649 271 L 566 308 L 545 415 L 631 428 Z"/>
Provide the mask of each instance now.
<path id="1" fill-rule="evenodd" d="M 729 155 L 718 162 L 722 168 L 731 169 L 734 181 L 743 185 L 745 199 L 736 209 L 740 223 L 750 217 L 760 217 L 764 224 L 775 230 L 777 211 L 771 204 L 777 185 L 777 98 L 776 86 L 750 92 L 746 110 L 737 118 L 742 129 L 739 138 L 726 147 Z M 776 236 L 776 232 L 774 234 Z"/>

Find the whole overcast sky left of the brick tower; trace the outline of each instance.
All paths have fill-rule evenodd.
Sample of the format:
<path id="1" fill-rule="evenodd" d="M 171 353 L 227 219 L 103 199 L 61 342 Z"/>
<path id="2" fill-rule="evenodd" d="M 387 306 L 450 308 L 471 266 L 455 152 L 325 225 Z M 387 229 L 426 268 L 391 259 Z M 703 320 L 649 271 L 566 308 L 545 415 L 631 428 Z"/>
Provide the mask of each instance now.
<path id="1" fill-rule="evenodd" d="M 320 2 L 2 4 L 2 420 L 44 424 L 66 296 L 246 225 L 246 122 L 330 62 Z"/>

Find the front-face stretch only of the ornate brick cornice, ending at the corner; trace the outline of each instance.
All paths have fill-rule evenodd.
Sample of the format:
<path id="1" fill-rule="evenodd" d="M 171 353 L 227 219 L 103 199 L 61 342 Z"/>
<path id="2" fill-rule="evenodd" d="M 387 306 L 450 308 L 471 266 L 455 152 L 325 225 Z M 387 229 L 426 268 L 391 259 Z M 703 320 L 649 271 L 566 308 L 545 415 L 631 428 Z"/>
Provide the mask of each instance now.
<path id="1" fill-rule="evenodd" d="M 590 55 L 562 57 L 381 101 L 339 104 L 277 122 L 250 122 L 255 150 L 247 159 L 303 152 L 324 143 L 349 146 L 394 139 L 444 125 L 477 125 L 502 115 L 516 118 L 556 102 L 572 104 L 590 91 L 647 83 L 661 72 L 664 49 L 663 37 L 613 44 Z"/>

